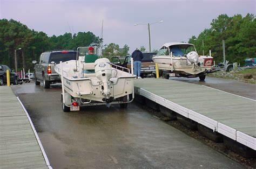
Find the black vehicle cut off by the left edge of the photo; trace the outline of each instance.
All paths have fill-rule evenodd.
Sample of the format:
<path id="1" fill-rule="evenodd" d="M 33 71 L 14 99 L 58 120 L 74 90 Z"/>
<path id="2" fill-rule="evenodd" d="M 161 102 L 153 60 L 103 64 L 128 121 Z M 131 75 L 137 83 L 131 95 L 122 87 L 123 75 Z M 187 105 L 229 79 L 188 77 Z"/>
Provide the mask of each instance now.
<path id="1" fill-rule="evenodd" d="M 0 65 L 0 86 L 3 86 L 7 83 L 6 71 L 10 71 L 10 82 L 14 85 L 18 85 L 18 75 L 6 65 Z"/>

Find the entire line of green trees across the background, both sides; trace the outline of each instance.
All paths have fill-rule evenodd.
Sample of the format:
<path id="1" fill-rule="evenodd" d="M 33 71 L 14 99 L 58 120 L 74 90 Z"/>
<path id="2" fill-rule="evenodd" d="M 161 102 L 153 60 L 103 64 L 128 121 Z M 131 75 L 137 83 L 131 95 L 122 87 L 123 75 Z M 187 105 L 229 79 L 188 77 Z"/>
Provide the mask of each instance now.
<path id="1" fill-rule="evenodd" d="M 226 60 L 244 63 L 245 58 L 255 57 L 256 20 L 253 14 L 245 17 L 226 14 L 219 15 L 211 22 L 211 28 L 205 29 L 198 37 L 192 36 L 188 43 L 194 44 L 197 52 L 202 55 L 211 54 L 215 62 L 223 61 L 223 45 L 225 40 Z M 100 39 L 92 32 L 64 33 L 60 36 L 49 37 L 42 31 L 29 29 L 26 25 L 14 19 L 0 19 L 0 63 L 15 68 L 15 50 L 17 54 L 18 70 L 33 69 L 32 60 L 38 60 L 42 52 L 51 50 L 76 50 L 79 46 L 100 44 Z M 203 46 L 204 41 L 204 46 Z M 21 50 L 17 50 L 21 48 Z M 145 51 L 145 47 L 141 46 Z M 124 45 L 120 50 L 118 44 L 104 46 L 103 57 L 125 56 L 129 46 Z"/>

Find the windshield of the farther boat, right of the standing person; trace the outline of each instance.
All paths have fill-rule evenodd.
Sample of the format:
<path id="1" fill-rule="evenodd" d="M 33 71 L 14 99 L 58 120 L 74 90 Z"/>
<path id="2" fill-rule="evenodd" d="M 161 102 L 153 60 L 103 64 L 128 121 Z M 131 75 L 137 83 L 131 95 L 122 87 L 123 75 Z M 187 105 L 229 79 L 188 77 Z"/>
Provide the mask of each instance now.
<path id="1" fill-rule="evenodd" d="M 181 45 L 172 45 L 169 46 L 169 49 L 167 48 L 161 48 L 157 55 L 170 55 L 172 52 L 172 55 L 175 57 L 183 57 L 185 54 L 188 54 L 189 52 L 196 51 L 193 45 L 190 44 L 181 44 Z"/>

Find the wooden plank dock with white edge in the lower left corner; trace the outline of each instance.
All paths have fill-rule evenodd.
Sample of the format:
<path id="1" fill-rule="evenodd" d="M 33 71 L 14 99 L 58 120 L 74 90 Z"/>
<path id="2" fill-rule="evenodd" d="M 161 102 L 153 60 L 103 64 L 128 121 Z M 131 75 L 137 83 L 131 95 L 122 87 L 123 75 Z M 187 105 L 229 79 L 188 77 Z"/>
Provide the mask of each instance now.
<path id="1" fill-rule="evenodd" d="M 0 168 L 52 168 L 28 112 L 8 86 L 0 87 Z"/>

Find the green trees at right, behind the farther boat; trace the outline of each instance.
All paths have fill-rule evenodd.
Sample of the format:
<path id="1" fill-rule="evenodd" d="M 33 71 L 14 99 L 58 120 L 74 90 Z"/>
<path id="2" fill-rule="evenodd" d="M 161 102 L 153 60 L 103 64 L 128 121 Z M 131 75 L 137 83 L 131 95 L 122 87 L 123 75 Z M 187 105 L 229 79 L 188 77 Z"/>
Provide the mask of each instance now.
<path id="1" fill-rule="evenodd" d="M 197 39 L 197 40 L 194 40 Z M 204 39 L 204 48 L 203 48 Z M 225 40 L 226 60 L 244 64 L 246 58 L 255 57 L 256 51 L 256 20 L 252 14 L 244 18 L 241 15 L 228 17 L 226 14 L 213 19 L 210 29 L 205 29 L 196 38 L 192 36 L 188 43 L 194 44 L 199 54 L 209 54 L 211 50 L 215 62 L 223 62 L 223 45 Z"/>

